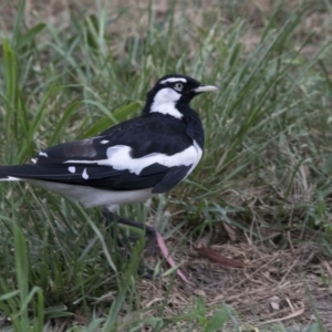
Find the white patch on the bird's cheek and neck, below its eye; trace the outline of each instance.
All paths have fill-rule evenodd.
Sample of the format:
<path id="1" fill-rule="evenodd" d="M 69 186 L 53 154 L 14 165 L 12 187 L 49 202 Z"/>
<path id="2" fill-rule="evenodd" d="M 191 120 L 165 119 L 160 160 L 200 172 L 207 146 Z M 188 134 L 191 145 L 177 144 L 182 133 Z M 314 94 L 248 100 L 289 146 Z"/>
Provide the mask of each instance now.
<path id="1" fill-rule="evenodd" d="M 176 118 L 181 118 L 184 115 L 175 107 L 175 103 L 179 101 L 180 97 L 181 95 L 173 89 L 164 87 L 155 95 L 149 112 L 168 114 Z"/>

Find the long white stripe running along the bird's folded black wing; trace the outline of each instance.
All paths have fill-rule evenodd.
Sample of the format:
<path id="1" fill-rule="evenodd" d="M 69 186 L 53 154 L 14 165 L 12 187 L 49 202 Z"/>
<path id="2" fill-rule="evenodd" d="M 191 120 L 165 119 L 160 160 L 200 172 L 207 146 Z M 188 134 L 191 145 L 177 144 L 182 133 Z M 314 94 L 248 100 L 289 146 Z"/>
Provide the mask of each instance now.
<path id="1" fill-rule="evenodd" d="M 146 155 L 141 158 L 133 158 L 131 156 L 132 148 L 127 145 L 115 145 L 107 148 L 107 159 L 101 160 L 66 160 L 64 163 L 76 163 L 76 164 L 97 164 L 97 165 L 105 165 L 112 166 L 116 170 L 125 170 L 127 169 L 131 173 L 139 175 L 141 172 L 153 165 L 153 164 L 160 164 L 167 167 L 174 166 L 189 166 L 193 165 L 189 173 L 197 166 L 200 157 L 201 157 L 201 148 L 199 145 L 194 141 L 194 144 L 180 153 L 174 154 L 172 156 L 167 156 L 165 154 L 153 153 Z M 84 169 L 82 176 L 84 174 L 87 175 L 86 168 Z"/>

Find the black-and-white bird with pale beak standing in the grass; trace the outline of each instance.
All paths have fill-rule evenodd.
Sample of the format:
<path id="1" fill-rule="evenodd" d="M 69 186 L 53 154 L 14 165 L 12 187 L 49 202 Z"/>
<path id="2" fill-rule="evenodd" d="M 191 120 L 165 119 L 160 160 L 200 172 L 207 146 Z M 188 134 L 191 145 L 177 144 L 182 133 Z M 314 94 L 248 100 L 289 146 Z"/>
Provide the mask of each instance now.
<path id="1" fill-rule="evenodd" d="M 217 90 L 165 75 L 146 94 L 139 116 L 45 148 L 30 164 L 0 166 L 0 181 L 25 181 L 110 214 L 167 193 L 189 176 L 204 151 L 203 123 L 189 103 Z"/>

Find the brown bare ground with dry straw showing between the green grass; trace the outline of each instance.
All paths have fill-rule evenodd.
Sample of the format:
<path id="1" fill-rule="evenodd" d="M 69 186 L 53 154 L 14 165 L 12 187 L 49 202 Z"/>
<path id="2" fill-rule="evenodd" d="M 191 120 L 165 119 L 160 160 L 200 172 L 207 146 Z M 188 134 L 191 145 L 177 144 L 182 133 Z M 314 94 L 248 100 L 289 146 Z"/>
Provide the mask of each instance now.
<path id="1" fill-rule="evenodd" d="M 298 6 L 303 6 L 304 8 L 304 4 L 300 2 L 294 0 L 284 2 L 279 14 L 286 14 L 288 11 L 298 9 Z M 25 6 L 24 21 L 28 27 L 32 27 L 35 22 L 46 19 L 48 23 L 54 24 L 55 29 L 61 30 L 71 24 L 71 13 L 94 13 L 96 3 L 102 6 L 104 2 L 52 0 L 45 6 L 44 1 L 29 0 Z M 169 2 L 153 1 L 152 3 L 156 20 L 163 21 L 168 13 Z M 174 20 L 181 19 L 183 11 L 180 9 L 185 8 L 187 15 L 197 25 L 208 25 L 207 22 L 210 20 L 210 17 L 206 13 L 210 14 L 210 11 L 207 8 L 218 8 L 220 12 L 218 19 L 220 24 L 227 30 L 236 20 L 232 13 L 232 10 L 236 8 L 236 14 L 249 22 L 251 27 L 250 30 L 240 35 L 240 42 L 243 44 L 242 56 L 247 56 L 255 50 L 261 38 L 263 27 L 269 20 L 269 15 L 277 8 L 276 1 L 268 0 L 238 1 L 232 6 L 228 1 L 214 0 L 198 1 L 197 3 L 191 7 L 190 1 L 175 1 Z M 294 49 L 297 49 L 301 41 L 311 32 L 314 33 L 311 42 L 305 44 L 301 53 L 303 58 L 310 59 L 330 39 L 332 24 L 329 28 L 331 12 L 323 10 L 320 4 L 314 2 L 309 1 L 305 4 L 311 7 L 307 11 L 305 17 L 302 18 L 303 21 L 298 28 L 293 41 Z M 17 9 L 10 2 L 1 6 L 2 34 L 7 35 L 13 29 L 13 17 L 17 13 Z M 142 13 L 146 10 L 148 1 L 112 1 L 110 6 L 110 12 L 114 13 L 110 19 L 117 17 L 120 19 L 116 24 L 110 24 L 107 33 L 115 37 L 144 35 L 144 27 L 148 23 L 148 18 Z M 203 7 L 205 10 L 201 9 Z M 133 20 L 125 21 L 121 19 L 121 11 L 131 11 Z M 280 17 L 280 21 L 283 19 L 283 17 Z M 187 27 L 187 30 L 190 30 L 190 27 Z M 116 43 L 112 49 L 120 58 L 122 56 L 122 50 L 125 49 L 125 40 L 123 38 L 123 42 Z M 188 45 L 188 52 L 196 52 L 196 50 L 197 45 L 194 43 Z M 330 77 L 331 84 L 331 68 L 326 69 L 326 76 Z M 273 151 L 269 153 L 273 155 Z M 271 160 L 273 158 L 274 156 L 271 157 Z M 310 178 L 312 176 L 312 173 L 305 167 L 302 170 L 303 177 Z M 249 206 L 253 210 L 267 208 L 267 197 L 273 196 L 273 193 L 279 200 L 284 199 L 280 191 L 271 188 L 271 186 L 266 186 L 264 188 L 246 187 L 246 184 L 241 184 L 241 188 L 237 186 L 231 188 L 230 191 L 232 189 L 239 191 L 229 194 L 229 197 L 232 198 L 229 198 L 229 200 L 225 198 L 225 200 L 237 200 L 237 206 L 243 208 Z M 246 195 L 251 195 L 249 198 L 245 194 L 242 196 L 245 189 L 247 190 Z M 332 255 L 329 252 L 331 247 L 319 242 L 321 239 L 321 229 L 319 227 L 312 227 L 303 232 L 301 232 L 300 228 L 291 228 L 291 224 L 295 219 L 292 218 L 292 209 L 297 209 L 299 201 L 311 200 L 315 195 L 312 194 L 314 188 L 311 188 L 309 185 L 303 185 L 298 190 L 299 195 L 297 196 L 295 193 L 292 193 L 293 196 L 290 198 L 290 201 L 286 203 L 289 205 L 287 208 L 289 212 L 283 219 L 289 218 L 289 229 L 283 228 L 280 231 L 280 228 L 276 227 L 274 229 L 273 225 L 260 228 L 255 225 L 255 219 L 252 218 L 247 224 L 255 229 L 260 229 L 261 237 L 259 238 L 251 236 L 249 231 L 237 228 L 235 225 L 229 226 L 225 220 L 220 220 L 220 225 L 212 228 L 214 230 L 205 230 L 199 237 L 194 236 L 190 241 L 188 240 L 185 250 L 180 238 L 170 237 L 167 243 L 173 248 L 176 261 L 180 264 L 180 269 L 187 279 L 190 280 L 190 284 L 179 278 L 174 279 L 170 277 L 157 278 L 153 281 L 138 280 L 136 287 L 141 295 L 141 305 L 145 309 L 141 318 L 158 317 L 159 313 L 156 312 L 155 304 L 165 303 L 164 317 L 179 315 L 179 319 L 176 325 L 165 328 L 163 331 L 187 331 L 187 321 L 185 319 L 181 321 L 180 315 L 188 310 L 190 311 L 191 307 L 199 305 L 199 301 L 201 301 L 207 318 L 210 318 L 224 304 L 232 312 L 231 317 L 234 320 L 227 323 L 225 331 L 234 331 L 235 326 L 241 326 L 241 331 L 257 331 L 255 329 L 272 331 L 270 330 L 272 329 L 271 326 L 279 326 L 279 322 L 283 326 L 290 328 L 290 331 L 307 331 L 305 326 L 317 329 L 312 331 L 323 331 L 320 330 L 323 329 L 322 326 L 324 326 L 325 331 L 332 331 Z M 174 210 L 174 206 L 170 206 L 169 210 L 172 215 L 176 216 L 178 214 L 178 211 Z M 297 210 L 295 214 L 297 220 L 301 220 L 301 212 Z M 267 211 L 266 219 L 270 218 L 269 216 L 269 211 Z M 234 218 L 238 217 L 239 215 L 234 214 Z M 331 219 L 328 222 L 331 224 Z M 267 224 L 269 224 L 269 220 L 267 220 Z M 201 255 L 197 250 L 197 247 L 201 246 L 209 247 L 224 257 L 239 261 L 243 263 L 243 267 L 232 268 L 211 262 L 206 257 L 207 255 Z M 107 295 L 110 295 L 107 300 L 112 302 L 113 293 L 105 294 L 105 298 Z M 199 299 L 198 302 L 197 299 Z M 122 324 L 126 326 L 127 319 L 127 315 L 123 315 L 123 320 L 122 318 L 118 319 L 118 331 L 125 331 L 126 328 L 122 328 Z M 54 328 L 52 331 L 64 331 L 75 324 L 89 324 L 86 317 L 80 311 L 76 312 L 74 319 L 61 320 L 59 322 L 61 322 L 60 325 L 62 328 L 55 324 L 58 328 Z M 153 329 L 149 329 L 152 328 L 148 328 L 148 324 L 146 324 L 142 326 L 141 331 L 153 331 Z M 200 331 L 199 328 L 195 329 L 193 328 L 190 331 Z"/>

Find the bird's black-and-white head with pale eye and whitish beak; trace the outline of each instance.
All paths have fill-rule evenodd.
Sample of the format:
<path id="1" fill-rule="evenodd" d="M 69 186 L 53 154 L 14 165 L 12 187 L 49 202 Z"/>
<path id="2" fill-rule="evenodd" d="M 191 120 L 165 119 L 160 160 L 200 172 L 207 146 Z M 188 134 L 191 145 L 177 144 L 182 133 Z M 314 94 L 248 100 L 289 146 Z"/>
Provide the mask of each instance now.
<path id="1" fill-rule="evenodd" d="M 166 75 L 147 93 L 144 113 L 158 112 L 180 118 L 180 105 L 189 105 L 189 102 L 203 92 L 217 90 L 215 85 L 204 85 L 189 76 Z"/>

